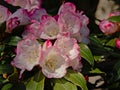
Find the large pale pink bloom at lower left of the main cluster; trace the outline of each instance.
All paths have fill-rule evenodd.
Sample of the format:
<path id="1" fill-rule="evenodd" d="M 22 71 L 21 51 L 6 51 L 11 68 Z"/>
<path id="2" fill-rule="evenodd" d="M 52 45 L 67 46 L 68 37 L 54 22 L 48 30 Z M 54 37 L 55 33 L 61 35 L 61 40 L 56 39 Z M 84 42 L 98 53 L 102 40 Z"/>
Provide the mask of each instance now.
<path id="1" fill-rule="evenodd" d="M 34 37 L 28 37 L 17 44 L 17 55 L 12 65 L 21 69 L 20 78 L 25 70 L 32 70 L 39 64 L 41 58 L 41 45 Z"/>

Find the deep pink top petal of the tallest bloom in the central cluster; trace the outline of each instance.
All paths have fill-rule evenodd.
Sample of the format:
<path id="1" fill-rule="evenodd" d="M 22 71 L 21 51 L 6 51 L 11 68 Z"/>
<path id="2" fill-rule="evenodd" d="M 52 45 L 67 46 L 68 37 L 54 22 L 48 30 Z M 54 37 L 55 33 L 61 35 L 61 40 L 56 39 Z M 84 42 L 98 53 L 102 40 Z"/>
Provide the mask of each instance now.
<path id="1" fill-rule="evenodd" d="M 73 3 L 67 2 L 67 3 L 63 3 L 58 11 L 58 14 L 60 13 L 65 13 L 65 12 L 75 12 L 76 11 L 76 6 Z"/>

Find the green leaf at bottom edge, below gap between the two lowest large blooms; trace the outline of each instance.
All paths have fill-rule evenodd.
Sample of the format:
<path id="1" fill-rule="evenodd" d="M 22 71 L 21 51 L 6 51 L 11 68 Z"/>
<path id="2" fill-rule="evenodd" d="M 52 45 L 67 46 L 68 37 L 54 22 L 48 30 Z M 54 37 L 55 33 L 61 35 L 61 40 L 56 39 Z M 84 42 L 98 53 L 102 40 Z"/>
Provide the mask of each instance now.
<path id="1" fill-rule="evenodd" d="M 26 90 L 44 90 L 45 77 L 39 71 L 34 77 L 26 82 Z"/>

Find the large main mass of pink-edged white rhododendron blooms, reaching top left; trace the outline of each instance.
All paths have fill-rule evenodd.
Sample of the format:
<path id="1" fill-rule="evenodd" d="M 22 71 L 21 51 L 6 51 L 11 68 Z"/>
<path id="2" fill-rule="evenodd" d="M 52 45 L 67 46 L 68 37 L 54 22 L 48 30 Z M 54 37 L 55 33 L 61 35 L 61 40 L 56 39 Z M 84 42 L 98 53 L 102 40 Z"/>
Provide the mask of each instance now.
<path id="1" fill-rule="evenodd" d="M 5 1 L 21 7 L 6 19 L 6 32 L 25 25 L 11 63 L 21 69 L 20 78 L 25 70 L 31 71 L 36 65 L 48 78 L 63 77 L 69 67 L 81 71 L 78 42 L 89 43 L 89 19 L 82 11 L 67 2 L 60 6 L 57 15 L 50 16 L 40 7 L 40 0 Z M 40 40 L 45 42 L 41 44 Z"/>

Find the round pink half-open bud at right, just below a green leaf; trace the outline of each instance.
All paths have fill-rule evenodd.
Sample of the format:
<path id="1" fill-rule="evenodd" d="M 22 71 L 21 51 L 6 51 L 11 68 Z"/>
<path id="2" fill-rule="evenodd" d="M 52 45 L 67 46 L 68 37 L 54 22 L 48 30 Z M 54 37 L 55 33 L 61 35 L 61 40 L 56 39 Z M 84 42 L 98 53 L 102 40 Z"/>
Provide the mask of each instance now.
<path id="1" fill-rule="evenodd" d="M 117 24 L 108 20 L 102 20 L 99 24 L 99 28 L 104 34 L 108 35 L 115 33 L 118 29 L 118 26 Z"/>

